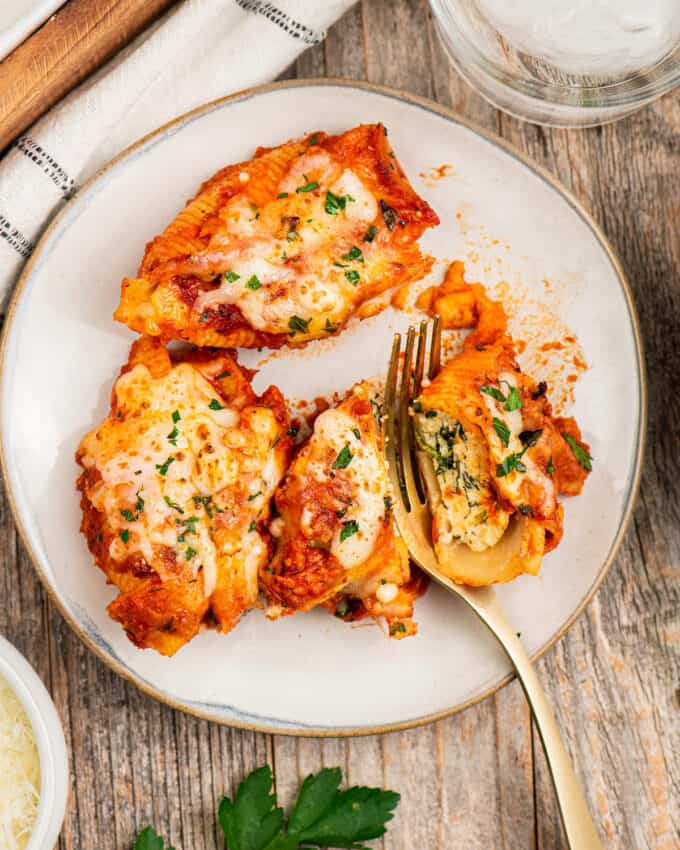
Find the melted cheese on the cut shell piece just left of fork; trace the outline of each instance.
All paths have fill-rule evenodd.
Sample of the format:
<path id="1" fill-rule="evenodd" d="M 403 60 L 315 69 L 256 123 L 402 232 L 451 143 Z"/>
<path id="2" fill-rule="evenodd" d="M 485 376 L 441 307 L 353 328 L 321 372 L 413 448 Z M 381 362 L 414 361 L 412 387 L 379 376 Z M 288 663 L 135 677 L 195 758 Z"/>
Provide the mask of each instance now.
<path id="1" fill-rule="evenodd" d="M 314 423 L 313 437 L 320 445 L 331 447 L 333 457 L 337 457 L 345 446 L 352 452 L 349 465 L 337 470 L 336 474 L 346 478 L 352 491 L 352 504 L 343 520 L 346 523 L 355 521 L 359 529 L 342 541 L 342 528 L 337 529 L 331 543 L 332 554 L 348 570 L 371 555 L 385 515 L 385 496 L 389 494 L 387 474 L 376 447 L 368 443 L 365 436 L 357 439 L 353 428 L 356 422 L 347 413 L 326 410 Z M 310 463 L 310 472 L 318 481 L 325 482 L 330 471 L 320 462 Z"/>

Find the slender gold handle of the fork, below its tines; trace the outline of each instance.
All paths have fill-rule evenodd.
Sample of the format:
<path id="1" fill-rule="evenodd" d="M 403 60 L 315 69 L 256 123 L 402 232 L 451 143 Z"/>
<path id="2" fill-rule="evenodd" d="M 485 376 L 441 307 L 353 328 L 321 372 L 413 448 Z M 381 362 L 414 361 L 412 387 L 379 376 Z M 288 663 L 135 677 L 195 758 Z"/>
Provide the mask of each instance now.
<path id="1" fill-rule="evenodd" d="M 465 597 L 499 640 L 513 663 L 524 689 L 543 744 L 564 831 L 571 850 L 602 850 L 599 834 L 586 803 L 581 784 L 564 746 L 559 726 L 545 690 L 522 642 L 508 622 L 492 590 L 470 591 Z M 472 599 L 468 598 L 469 596 Z"/>

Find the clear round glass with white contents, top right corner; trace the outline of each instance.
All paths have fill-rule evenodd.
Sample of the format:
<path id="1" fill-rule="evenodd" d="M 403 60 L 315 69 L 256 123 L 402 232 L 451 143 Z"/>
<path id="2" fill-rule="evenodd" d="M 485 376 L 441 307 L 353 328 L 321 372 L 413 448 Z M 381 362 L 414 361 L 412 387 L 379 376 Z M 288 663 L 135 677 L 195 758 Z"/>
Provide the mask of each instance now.
<path id="1" fill-rule="evenodd" d="M 680 82 L 680 0 L 430 0 L 460 74 L 537 124 L 628 115 Z"/>

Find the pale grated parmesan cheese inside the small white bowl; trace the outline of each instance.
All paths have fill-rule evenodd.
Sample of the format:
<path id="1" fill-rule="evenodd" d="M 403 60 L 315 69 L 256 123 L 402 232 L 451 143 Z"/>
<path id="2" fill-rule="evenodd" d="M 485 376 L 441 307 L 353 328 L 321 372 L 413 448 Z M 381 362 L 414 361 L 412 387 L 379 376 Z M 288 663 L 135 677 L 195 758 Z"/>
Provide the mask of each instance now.
<path id="1" fill-rule="evenodd" d="M 24 850 L 38 814 L 40 756 L 24 707 L 0 678 L 0 847 Z"/>

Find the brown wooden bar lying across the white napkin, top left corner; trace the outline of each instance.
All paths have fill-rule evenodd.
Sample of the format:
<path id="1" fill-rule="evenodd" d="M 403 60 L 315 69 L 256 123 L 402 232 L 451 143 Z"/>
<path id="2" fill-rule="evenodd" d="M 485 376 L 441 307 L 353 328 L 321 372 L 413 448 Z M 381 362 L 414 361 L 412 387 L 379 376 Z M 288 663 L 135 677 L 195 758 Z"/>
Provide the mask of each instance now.
<path id="1" fill-rule="evenodd" d="M 0 62 L 0 151 L 177 0 L 70 0 Z"/>

